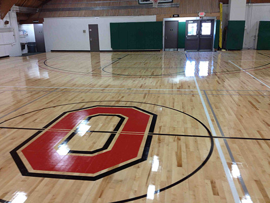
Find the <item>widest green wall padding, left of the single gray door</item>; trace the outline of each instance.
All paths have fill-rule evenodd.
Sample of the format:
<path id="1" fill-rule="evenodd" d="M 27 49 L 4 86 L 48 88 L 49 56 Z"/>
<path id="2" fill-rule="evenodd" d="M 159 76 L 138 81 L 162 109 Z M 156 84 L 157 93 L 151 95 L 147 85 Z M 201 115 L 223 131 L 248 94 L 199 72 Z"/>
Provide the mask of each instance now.
<path id="1" fill-rule="evenodd" d="M 110 23 L 113 50 L 162 49 L 162 22 Z"/>

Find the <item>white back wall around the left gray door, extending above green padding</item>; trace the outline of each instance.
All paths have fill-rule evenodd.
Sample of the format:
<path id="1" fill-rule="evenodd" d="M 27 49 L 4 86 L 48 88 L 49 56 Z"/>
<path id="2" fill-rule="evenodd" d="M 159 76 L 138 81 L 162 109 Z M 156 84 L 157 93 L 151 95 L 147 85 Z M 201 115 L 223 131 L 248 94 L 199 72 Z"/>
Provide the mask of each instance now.
<path id="1" fill-rule="evenodd" d="M 46 52 L 51 50 L 90 50 L 88 24 L 98 24 L 99 49 L 112 50 L 111 22 L 156 21 L 156 16 L 44 18 Z M 83 33 L 83 30 L 86 33 Z"/>

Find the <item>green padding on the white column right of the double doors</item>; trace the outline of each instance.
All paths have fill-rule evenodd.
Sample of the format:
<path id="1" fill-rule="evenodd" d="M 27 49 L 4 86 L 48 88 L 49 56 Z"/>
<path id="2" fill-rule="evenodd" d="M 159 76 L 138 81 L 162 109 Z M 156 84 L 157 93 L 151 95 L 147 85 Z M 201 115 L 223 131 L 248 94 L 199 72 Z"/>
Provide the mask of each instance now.
<path id="1" fill-rule="evenodd" d="M 243 49 L 245 20 L 229 20 L 227 28 L 226 49 Z"/>

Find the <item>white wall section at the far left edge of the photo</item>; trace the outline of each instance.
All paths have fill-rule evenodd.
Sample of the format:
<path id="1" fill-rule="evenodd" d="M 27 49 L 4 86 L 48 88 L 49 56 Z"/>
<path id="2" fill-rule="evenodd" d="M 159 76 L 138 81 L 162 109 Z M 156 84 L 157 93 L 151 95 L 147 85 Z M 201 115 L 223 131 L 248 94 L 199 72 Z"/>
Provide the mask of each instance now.
<path id="1" fill-rule="evenodd" d="M 5 25 L 8 20 L 10 23 Z M 10 11 L 3 20 L 0 20 L 0 57 L 21 56 L 21 45 L 15 12 Z"/>

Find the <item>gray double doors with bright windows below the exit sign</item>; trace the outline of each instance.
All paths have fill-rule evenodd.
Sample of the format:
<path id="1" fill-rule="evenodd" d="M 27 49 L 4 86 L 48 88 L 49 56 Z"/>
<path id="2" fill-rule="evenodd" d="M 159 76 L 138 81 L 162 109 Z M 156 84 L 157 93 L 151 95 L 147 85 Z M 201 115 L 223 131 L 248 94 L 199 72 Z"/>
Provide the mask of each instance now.
<path id="1" fill-rule="evenodd" d="M 212 51 L 215 20 L 187 20 L 185 50 Z"/>

